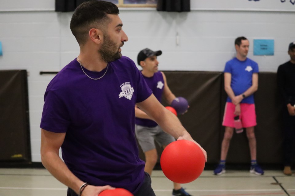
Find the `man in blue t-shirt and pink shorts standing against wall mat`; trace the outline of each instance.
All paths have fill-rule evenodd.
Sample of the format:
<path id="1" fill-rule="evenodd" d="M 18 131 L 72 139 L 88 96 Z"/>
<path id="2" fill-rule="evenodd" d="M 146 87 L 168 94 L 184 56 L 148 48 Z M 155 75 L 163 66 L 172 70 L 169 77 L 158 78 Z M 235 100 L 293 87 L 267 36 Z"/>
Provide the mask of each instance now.
<path id="1" fill-rule="evenodd" d="M 214 174 L 225 173 L 226 156 L 234 128 L 246 128 L 251 156 L 250 172 L 262 175 L 264 171 L 256 161 L 254 134 L 254 126 L 257 123 L 253 93 L 258 89 L 258 64 L 247 58 L 249 41 L 245 37 L 238 37 L 234 44 L 237 55 L 226 62 L 224 69 L 224 88 L 228 95 L 222 122 L 225 132 L 221 145 L 220 162 L 214 170 Z M 239 132 L 241 131 L 239 130 Z M 239 132 L 237 131 L 237 133 Z"/>

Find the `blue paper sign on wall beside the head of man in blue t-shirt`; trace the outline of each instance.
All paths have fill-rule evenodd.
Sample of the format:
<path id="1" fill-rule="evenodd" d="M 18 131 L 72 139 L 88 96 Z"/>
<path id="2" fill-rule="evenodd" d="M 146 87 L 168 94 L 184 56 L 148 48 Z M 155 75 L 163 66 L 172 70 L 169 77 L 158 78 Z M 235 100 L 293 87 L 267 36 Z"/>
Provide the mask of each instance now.
<path id="1" fill-rule="evenodd" d="M 274 40 L 254 40 L 254 55 L 274 55 Z"/>

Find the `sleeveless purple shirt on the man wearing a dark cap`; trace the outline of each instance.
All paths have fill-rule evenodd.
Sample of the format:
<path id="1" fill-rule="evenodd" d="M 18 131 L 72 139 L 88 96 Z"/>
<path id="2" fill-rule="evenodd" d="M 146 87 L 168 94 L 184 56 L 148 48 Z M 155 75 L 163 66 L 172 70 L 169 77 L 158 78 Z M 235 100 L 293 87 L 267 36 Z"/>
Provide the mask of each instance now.
<path id="1" fill-rule="evenodd" d="M 148 84 L 148 87 L 152 90 L 155 97 L 161 102 L 163 90 L 164 90 L 164 79 L 161 72 L 156 72 L 152 77 L 144 77 L 144 80 Z M 155 127 L 158 124 L 149 119 L 135 118 L 135 124 L 147 127 Z"/>

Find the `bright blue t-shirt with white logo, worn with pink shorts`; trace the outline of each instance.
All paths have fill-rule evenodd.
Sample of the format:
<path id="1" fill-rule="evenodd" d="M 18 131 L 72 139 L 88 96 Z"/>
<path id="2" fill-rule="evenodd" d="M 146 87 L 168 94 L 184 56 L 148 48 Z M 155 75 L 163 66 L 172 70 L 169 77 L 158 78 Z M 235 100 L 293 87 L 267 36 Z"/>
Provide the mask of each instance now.
<path id="1" fill-rule="evenodd" d="M 226 62 L 224 72 L 231 74 L 230 87 L 234 95 L 240 95 L 252 86 L 252 75 L 258 73 L 258 64 L 250 58 L 245 61 L 233 58 Z M 231 102 L 230 97 L 227 97 L 226 102 Z M 241 103 L 254 104 L 254 94 L 243 99 Z"/>

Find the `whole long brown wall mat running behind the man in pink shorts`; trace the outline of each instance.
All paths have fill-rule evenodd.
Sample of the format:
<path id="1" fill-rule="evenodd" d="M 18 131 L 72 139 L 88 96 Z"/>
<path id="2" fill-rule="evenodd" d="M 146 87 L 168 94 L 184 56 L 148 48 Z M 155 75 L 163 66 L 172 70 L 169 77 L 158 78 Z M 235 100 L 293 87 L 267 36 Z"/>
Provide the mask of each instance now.
<path id="1" fill-rule="evenodd" d="M 185 97 L 188 112 L 179 115 L 183 126 L 207 151 L 208 164 L 220 159 L 224 134 L 222 124 L 226 92 L 222 72 L 164 71 L 167 84 L 175 96 Z M 262 164 L 280 164 L 282 160 L 281 106 L 278 102 L 276 73 L 259 73 L 258 91 L 254 94 L 257 123 L 257 160 Z M 162 104 L 166 106 L 165 101 Z M 157 147 L 159 157 L 162 149 Z M 140 149 L 140 157 L 144 154 Z M 250 163 L 250 150 L 246 131 L 233 135 L 227 163 Z"/>

